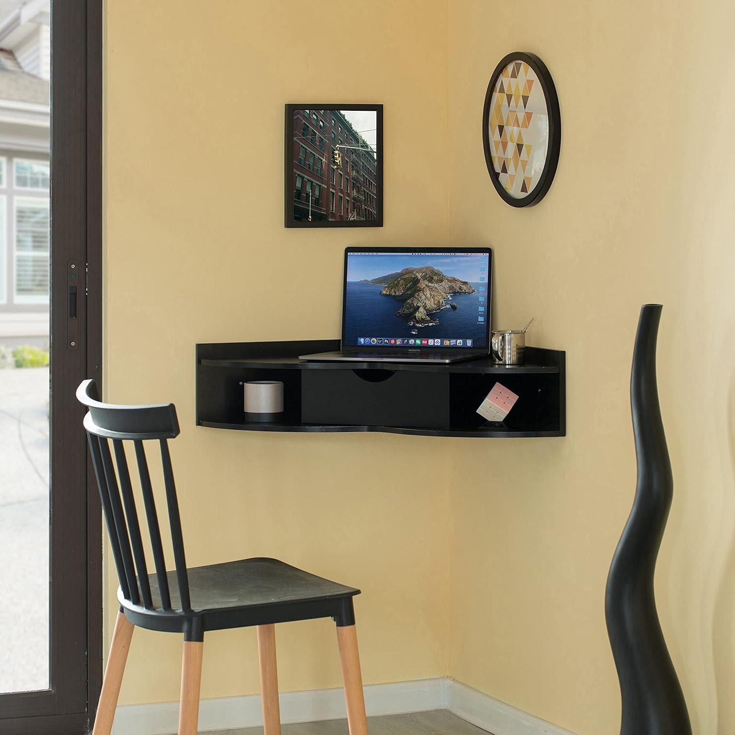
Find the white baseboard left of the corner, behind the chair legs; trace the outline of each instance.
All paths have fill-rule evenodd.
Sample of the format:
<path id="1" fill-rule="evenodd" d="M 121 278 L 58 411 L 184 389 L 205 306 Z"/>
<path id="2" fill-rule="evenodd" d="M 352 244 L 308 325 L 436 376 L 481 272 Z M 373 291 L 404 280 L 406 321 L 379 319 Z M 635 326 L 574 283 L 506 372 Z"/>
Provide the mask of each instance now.
<path id="1" fill-rule="evenodd" d="M 446 709 L 445 678 L 401 681 L 365 686 L 368 715 Z M 343 689 L 282 692 L 282 723 L 309 723 L 347 717 Z M 260 696 L 203 699 L 199 705 L 199 730 L 227 730 L 262 725 Z M 171 735 L 179 726 L 179 703 L 127 704 L 115 712 L 113 735 Z"/>

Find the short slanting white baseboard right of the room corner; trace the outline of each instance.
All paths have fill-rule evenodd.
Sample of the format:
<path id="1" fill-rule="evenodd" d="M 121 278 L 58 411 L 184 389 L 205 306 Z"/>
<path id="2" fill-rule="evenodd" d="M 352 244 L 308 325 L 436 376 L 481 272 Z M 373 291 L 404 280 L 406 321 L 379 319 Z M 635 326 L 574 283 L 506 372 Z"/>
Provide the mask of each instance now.
<path id="1" fill-rule="evenodd" d="M 574 735 L 454 679 L 448 690 L 449 711 L 494 735 Z"/>

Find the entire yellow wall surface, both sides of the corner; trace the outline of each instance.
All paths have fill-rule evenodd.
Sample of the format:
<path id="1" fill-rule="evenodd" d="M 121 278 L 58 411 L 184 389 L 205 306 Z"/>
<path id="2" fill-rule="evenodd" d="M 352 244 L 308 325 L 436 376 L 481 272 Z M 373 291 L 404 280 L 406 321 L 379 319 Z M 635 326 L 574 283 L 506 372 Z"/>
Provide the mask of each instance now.
<path id="1" fill-rule="evenodd" d="M 449 673 L 614 734 L 604 584 L 635 484 L 637 312 L 660 301 L 676 488 L 659 610 L 695 731 L 735 731 L 733 8 L 380 0 L 366 26 L 364 5 L 338 7 L 307 33 L 291 0 L 107 1 L 107 396 L 178 406 L 188 561 L 268 554 L 362 587 L 367 682 Z M 481 150 L 514 49 L 545 59 L 563 117 L 556 181 L 527 210 Z M 383 229 L 282 227 L 283 104 L 321 100 L 385 105 Z M 407 243 L 495 247 L 495 323 L 535 316 L 530 342 L 567 350 L 565 439 L 193 426 L 195 342 L 336 337 L 343 247 Z M 283 688 L 337 685 L 333 643 L 325 621 L 283 626 Z M 121 702 L 176 699 L 179 650 L 137 632 Z M 205 651 L 205 697 L 257 691 L 251 631 Z"/>

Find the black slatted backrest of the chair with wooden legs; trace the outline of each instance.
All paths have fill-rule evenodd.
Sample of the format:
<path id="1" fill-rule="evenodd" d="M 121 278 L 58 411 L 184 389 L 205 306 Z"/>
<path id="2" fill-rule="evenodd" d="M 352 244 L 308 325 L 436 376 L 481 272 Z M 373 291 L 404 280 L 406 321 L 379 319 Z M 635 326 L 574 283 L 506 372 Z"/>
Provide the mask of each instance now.
<path id="1" fill-rule="evenodd" d="M 148 473 L 148 460 L 143 447 L 145 440 L 158 440 L 160 445 L 163 481 L 168 505 L 168 522 L 171 528 L 173 562 L 176 565 L 176 581 L 179 600 L 184 611 L 190 610 L 189 579 L 184 558 L 179 501 L 173 482 L 171 455 L 168 440 L 179 435 L 179 422 L 173 404 L 156 406 L 113 406 L 99 401 L 93 380 L 85 380 L 76 389 L 79 403 L 87 406 L 84 426 L 87 431 L 92 462 L 97 478 L 107 530 L 110 533 L 112 556 L 120 578 L 120 587 L 126 600 L 147 609 L 171 610 L 171 591 L 168 586 L 166 564 L 163 556 L 158 514 Z M 158 580 L 160 604 L 154 604 L 151 585 L 148 583 L 148 566 L 143 551 L 143 538 L 138 522 L 135 495 L 126 459 L 124 441 L 132 441 L 135 448 L 140 490 L 148 521 L 148 534 Z M 110 452 L 112 442 L 112 453 Z M 112 465 L 115 456 L 117 475 Z M 178 608 L 177 608 L 178 609 Z"/>

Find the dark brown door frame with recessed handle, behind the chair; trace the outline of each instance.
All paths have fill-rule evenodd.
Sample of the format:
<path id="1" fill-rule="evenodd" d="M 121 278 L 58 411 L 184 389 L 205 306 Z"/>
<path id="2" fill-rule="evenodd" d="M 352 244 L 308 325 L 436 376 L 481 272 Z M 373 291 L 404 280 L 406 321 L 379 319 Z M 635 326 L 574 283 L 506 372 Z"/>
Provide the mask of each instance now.
<path id="1" fill-rule="evenodd" d="M 101 512 L 74 398 L 101 382 L 101 265 L 102 0 L 51 0 L 51 689 L 0 695 L 3 735 L 87 734 L 101 688 Z"/>

